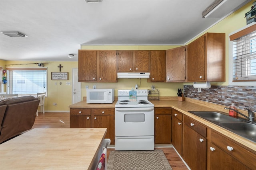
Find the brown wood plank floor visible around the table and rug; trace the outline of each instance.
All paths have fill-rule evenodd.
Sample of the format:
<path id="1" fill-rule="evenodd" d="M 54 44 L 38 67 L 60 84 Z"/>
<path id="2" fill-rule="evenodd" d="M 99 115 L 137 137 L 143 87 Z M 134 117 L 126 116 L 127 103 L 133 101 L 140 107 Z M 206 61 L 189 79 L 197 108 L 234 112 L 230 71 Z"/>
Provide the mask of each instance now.
<path id="1" fill-rule="evenodd" d="M 69 113 L 38 113 L 33 128 L 69 128 Z M 173 147 L 161 147 L 173 170 L 188 170 Z M 108 149 L 107 155 L 114 149 Z"/>

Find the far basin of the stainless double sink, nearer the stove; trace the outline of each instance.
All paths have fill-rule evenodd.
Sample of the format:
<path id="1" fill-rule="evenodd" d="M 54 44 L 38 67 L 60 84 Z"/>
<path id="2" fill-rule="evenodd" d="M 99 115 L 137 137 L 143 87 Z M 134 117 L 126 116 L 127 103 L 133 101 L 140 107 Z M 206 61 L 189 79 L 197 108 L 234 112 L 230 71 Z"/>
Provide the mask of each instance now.
<path id="1" fill-rule="evenodd" d="M 194 115 L 197 115 L 199 117 L 202 117 L 208 121 L 211 121 L 213 123 L 218 122 L 241 122 L 242 120 L 230 117 L 228 115 L 224 115 L 222 112 L 217 111 L 189 111 L 190 113 L 193 113 Z"/>

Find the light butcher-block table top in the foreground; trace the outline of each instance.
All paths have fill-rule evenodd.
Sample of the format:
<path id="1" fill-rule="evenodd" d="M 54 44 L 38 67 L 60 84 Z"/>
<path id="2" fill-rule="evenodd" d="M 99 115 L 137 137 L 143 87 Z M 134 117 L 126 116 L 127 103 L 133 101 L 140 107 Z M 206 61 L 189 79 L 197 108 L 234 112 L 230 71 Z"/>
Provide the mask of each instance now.
<path id="1" fill-rule="evenodd" d="M 0 169 L 90 170 L 106 128 L 32 129 L 0 145 Z"/>

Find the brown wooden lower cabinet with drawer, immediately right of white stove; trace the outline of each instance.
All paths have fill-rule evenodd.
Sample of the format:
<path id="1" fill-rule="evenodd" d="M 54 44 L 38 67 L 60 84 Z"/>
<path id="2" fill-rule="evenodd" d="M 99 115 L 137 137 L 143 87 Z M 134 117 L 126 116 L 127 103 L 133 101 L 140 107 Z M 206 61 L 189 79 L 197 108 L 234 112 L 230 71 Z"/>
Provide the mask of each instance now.
<path id="1" fill-rule="evenodd" d="M 156 107 L 155 111 L 155 144 L 171 144 L 172 109 Z"/>

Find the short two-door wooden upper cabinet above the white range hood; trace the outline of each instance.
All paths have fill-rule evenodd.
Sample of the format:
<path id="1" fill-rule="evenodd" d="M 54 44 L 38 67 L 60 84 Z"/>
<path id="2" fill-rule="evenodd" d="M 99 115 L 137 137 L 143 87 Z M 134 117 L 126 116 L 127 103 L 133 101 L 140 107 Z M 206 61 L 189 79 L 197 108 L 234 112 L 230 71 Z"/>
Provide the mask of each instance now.
<path id="1" fill-rule="evenodd" d="M 149 51 L 116 51 L 118 72 L 149 72 Z"/>

